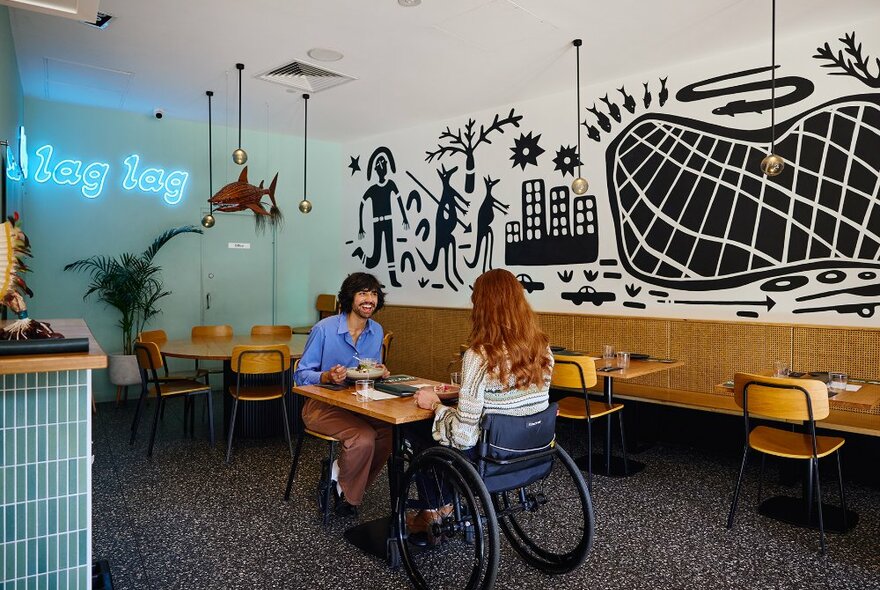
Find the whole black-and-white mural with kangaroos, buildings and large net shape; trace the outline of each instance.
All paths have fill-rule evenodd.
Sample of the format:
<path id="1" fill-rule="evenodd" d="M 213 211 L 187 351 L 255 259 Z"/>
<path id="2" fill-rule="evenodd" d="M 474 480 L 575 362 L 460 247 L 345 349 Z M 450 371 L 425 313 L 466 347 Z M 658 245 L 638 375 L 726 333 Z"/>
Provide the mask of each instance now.
<path id="1" fill-rule="evenodd" d="M 880 60 L 855 33 L 810 45 L 801 65 L 814 74 L 880 88 Z M 776 152 L 786 168 L 768 178 L 759 162 L 771 137 L 771 67 L 734 65 L 677 90 L 655 75 L 597 92 L 581 125 L 603 145 L 604 184 L 594 144 L 578 153 L 567 133 L 515 109 L 487 124 L 470 117 L 446 126 L 434 149 L 414 146 L 425 162 L 463 156 L 463 164 L 406 170 L 396 179 L 405 203 L 391 150 L 377 147 L 358 228 L 358 239 L 371 234 L 373 243 L 352 255 L 380 273 L 384 259 L 393 287 L 466 293 L 501 262 L 495 235 L 503 228 L 503 264 L 527 293 L 563 308 L 758 318 L 780 305 L 872 317 L 880 306 L 880 93 L 833 93 L 815 106 L 816 85 L 827 79 L 779 69 Z M 513 128 L 522 130 L 498 141 Z M 549 146 L 558 148 L 544 156 Z M 360 178 L 360 160 L 351 156 L 349 176 Z M 592 176 L 582 196 L 566 180 L 578 166 Z M 478 174 L 479 205 L 468 196 L 479 192 Z"/>

